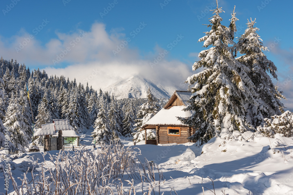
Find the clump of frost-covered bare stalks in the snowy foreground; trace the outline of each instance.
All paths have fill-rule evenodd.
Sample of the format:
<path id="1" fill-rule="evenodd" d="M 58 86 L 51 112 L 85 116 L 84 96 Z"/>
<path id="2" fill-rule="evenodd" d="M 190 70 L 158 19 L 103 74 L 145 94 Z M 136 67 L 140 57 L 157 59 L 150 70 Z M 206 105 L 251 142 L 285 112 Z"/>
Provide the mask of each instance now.
<path id="1" fill-rule="evenodd" d="M 21 185 L 14 179 L 11 169 L 14 194 L 160 194 L 163 174 L 158 166 L 145 159 L 137 158 L 139 153 L 130 147 L 117 143 L 103 145 L 98 151 L 82 149 L 75 152 L 60 151 L 57 156 L 50 155 L 51 162 L 42 163 L 37 173 L 24 173 Z M 45 159 L 45 157 L 44 157 Z M 155 170 L 159 178 L 155 177 Z M 33 168 L 34 170 L 34 168 Z M 122 181 L 123 177 L 127 179 Z"/>

